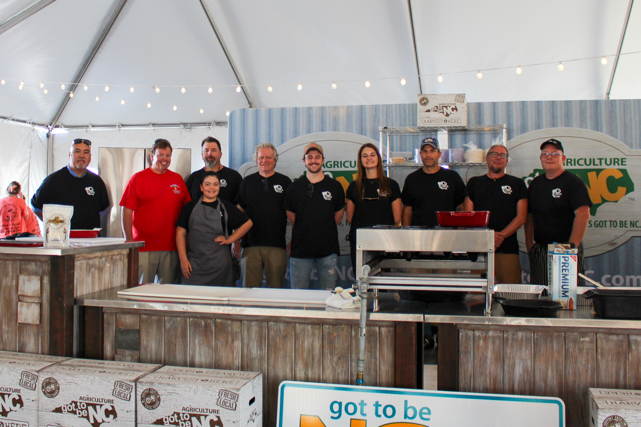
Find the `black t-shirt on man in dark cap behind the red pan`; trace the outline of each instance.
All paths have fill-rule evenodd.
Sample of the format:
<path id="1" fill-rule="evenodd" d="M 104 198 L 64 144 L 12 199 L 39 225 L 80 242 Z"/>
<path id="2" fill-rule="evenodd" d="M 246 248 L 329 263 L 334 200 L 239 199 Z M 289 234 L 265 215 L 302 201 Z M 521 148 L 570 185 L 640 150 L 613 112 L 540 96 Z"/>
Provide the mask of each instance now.
<path id="1" fill-rule="evenodd" d="M 410 173 L 403 186 L 403 204 L 412 207 L 412 225 L 436 227 L 438 211 L 456 211 L 465 200 L 465 183 L 453 170 L 440 168 Z"/>

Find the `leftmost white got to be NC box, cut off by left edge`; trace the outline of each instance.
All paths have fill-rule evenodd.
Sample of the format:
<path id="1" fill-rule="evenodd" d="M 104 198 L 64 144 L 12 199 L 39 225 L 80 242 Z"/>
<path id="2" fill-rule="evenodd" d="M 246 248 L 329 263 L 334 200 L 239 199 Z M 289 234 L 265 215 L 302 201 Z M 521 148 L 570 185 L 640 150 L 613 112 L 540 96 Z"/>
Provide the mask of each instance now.
<path id="1" fill-rule="evenodd" d="M 38 376 L 69 357 L 0 351 L 0 426 L 38 425 Z"/>

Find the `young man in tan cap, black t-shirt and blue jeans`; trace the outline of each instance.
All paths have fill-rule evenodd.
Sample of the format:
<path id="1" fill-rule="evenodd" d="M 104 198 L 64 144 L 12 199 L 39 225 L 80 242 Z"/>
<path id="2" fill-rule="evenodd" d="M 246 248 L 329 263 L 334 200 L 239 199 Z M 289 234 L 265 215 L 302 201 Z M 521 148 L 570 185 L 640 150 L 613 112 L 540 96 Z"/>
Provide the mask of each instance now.
<path id="1" fill-rule="evenodd" d="M 287 189 L 285 210 L 292 223 L 290 281 L 292 289 L 308 289 L 314 266 L 317 288 L 334 289 L 336 261 L 340 254 L 337 225 L 345 211 L 345 191 L 340 182 L 322 172 L 322 147 L 315 142 L 303 150 L 307 171 Z"/>

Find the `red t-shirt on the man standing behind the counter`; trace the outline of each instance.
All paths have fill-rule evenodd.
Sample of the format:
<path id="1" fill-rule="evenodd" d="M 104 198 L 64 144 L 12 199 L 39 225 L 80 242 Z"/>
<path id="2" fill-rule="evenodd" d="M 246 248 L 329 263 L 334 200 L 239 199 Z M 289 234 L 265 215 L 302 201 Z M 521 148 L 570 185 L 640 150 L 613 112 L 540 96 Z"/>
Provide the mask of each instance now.
<path id="1" fill-rule="evenodd" d="M 145 242 L 140 251 L 176 250 L 176 221 L 190 200 L 183 177 L 171 170 L 147 168 L 131 177 L 120 205 L 133 211 L 133 239 Z"/>

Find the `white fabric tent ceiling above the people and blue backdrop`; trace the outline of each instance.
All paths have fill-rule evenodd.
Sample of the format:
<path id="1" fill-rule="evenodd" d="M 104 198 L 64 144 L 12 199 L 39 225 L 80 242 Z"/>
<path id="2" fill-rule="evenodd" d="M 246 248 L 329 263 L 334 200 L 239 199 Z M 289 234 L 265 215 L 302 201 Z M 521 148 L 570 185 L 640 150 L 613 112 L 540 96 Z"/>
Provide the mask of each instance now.
<path id="1" fill-rule="evenodd" d="M 4 0 L 0 77 L 6 84 L 0 85 L 0 116 L 51 123 L 69 95 L 61 83 L 69 91 L 87 58 L 91 61 L 79 78 L 81 85 L 67 99 L 57 124 L 223 122 L 226 111 L 247 108 L 248 99 L 256 108 L 395 104 L 415 102 L 420 90 L 467 93 L 470 102 L 603 99 L 629 4 Z M 24 12 L 34 6 L 44 7 L 31 15 Z M 610 98 L 641 97 L 641 53 L 626 54 L 637 51 L 641 1 L 629 14 Z M 594 58 L 603 55 L 606 65 Z M 558 61 L 565 66 L 562 72 Z M 540 63 L 545 64 L 532 65 Z M 517 65 L 523 69 L 520 75 Z M 502 67 L 507 68 L 492 70 Z M 441 83 L 438 74 L 443 74 Z M 236 92 L 239 80 L 244 90 Z M 297 90 L 299 83 L 303 90 Z M 153 86 L 160 86 L 160 93 Z"/>

